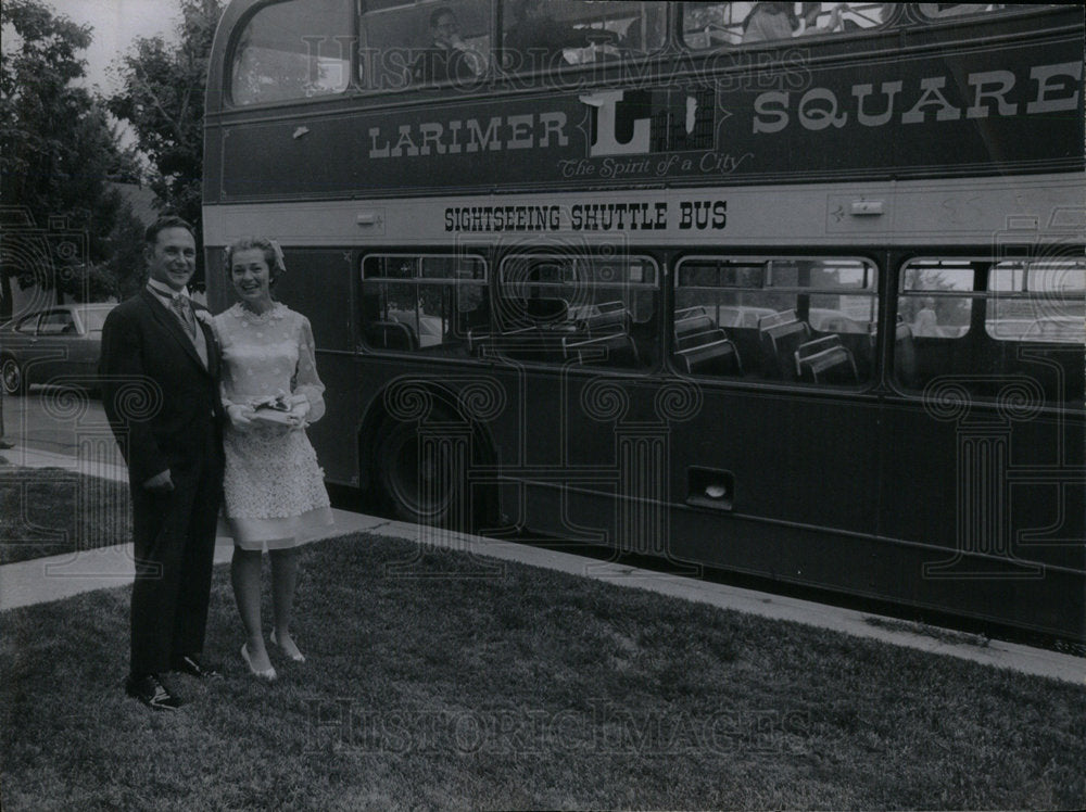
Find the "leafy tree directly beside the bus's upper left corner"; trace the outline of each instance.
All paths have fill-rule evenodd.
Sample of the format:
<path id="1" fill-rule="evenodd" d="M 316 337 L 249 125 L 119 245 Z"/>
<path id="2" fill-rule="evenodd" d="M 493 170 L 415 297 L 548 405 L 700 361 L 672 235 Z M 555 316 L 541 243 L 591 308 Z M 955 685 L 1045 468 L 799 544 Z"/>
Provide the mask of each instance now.
<path id="1" fill-rule="evenodd" d="M 219 0 L 180 0 L 180 9 L 179 45 L 137 39 L 122 59 L 123 86 L 109 107 L 131 125 L 164 207 L 199 226 L 207 60 L 223 7 Z"/>

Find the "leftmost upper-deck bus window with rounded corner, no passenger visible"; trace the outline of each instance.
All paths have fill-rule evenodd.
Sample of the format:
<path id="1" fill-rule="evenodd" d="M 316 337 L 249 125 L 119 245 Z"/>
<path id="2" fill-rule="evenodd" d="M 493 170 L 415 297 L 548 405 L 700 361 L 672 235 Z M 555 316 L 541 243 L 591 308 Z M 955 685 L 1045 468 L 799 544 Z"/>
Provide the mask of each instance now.
<path id="1" fill-rule="evenodd" d="M 351 83 L 353 4 L 282 2 L 256 12 L 231 62 L 235 104 L 264 104 L 342 92 Z"/>

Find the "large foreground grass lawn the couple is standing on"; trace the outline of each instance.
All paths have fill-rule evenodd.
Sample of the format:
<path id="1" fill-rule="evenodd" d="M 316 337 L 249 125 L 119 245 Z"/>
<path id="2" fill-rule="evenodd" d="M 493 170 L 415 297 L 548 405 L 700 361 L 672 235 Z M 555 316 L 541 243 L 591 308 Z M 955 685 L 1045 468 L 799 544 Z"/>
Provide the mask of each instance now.
<path id="1" fill-rule="evenodd" d="M 0 617 L 5 810 L 1077 809 L 1086 690 L 519 564 L 305 549 L 310 661 L 125 698 L 128 588 Z M 433 574 L 426 578 L 427 573 Z M 265 589 L 267 594 L 267 589 Z"/>

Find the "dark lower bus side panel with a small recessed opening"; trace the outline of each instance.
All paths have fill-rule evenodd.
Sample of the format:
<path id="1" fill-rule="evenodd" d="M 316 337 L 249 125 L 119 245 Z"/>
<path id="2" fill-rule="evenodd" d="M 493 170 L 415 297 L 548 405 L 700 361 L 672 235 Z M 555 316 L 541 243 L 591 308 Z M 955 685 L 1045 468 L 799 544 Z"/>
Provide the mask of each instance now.
<path id="1" fill-rule="evenodd" d="M 877 489 L 870 472 L 877 470 L 879 409 L 873 401 L 744 391 L 678 378 L 645 385 L 570 376 L 566 389 L 563 435 L 538 436 L 551 427 L 533 423 L 530 441 L 530 447 L 541 448 L 557 441 L 565 449 L 552 452 L 547 462 L 564 465 L 566 504 L 546 494 L 560 489 L 541 484 L 540 503 L 528 499 L 529 515 L 521 517 L 534 530 L 566 537 L 578 537 L 579 531 L 585 540 L 673 558 L 696 550 L 695 560 L 767 575 L 795 568 L 782 555 L 781 526 L 811 528 L 805 537 L 815 545 L 834 530 L 875 531 Z M 533 401 L 530 413 L 536 411 Z M 534 479 L 544 482 L 542 475 Z M 715 499 L 706 493 L 712 489 L 725 493 Z M 704 540 L 695 542 L 668 524 L 669 506 L 685 504 L 716 517 Z M 815 525 L 829 530 L 815 532 Z M 742 551 L 732 547 L 740 526 L 761 528 Z M 832 548 L 822 551 L 832 569 L 839 569 Z M 845 574 L 842 585 L 858 586 L 848 581 L 847 568 Z"/>

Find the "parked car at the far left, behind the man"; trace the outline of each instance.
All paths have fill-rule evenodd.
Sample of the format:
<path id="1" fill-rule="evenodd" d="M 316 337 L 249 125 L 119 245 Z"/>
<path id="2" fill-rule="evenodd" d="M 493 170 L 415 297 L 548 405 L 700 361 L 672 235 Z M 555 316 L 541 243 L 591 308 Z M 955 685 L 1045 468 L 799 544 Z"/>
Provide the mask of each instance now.
<path id="1" fill-rule="evenodd" d="M 102 325 L 115 304 L 66 304 L 0 326 L 0 379 L 4 394 L 23 395 L 31 383 L 58 381 L 94 388 Z"/>

